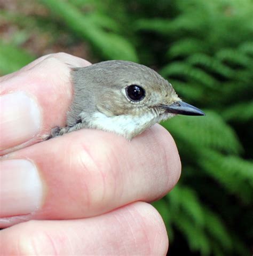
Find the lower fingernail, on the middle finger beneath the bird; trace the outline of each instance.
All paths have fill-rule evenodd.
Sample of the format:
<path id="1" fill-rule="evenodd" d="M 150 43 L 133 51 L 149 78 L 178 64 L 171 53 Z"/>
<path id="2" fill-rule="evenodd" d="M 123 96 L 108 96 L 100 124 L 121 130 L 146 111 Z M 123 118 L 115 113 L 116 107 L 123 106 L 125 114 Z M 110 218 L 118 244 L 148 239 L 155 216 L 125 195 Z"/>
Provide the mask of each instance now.
<path id="1" fill-rule="evenodd" d="M 0 162 L 0 217 L 32 213 L 42 203 L 42 181 L 28 160 Z"/>

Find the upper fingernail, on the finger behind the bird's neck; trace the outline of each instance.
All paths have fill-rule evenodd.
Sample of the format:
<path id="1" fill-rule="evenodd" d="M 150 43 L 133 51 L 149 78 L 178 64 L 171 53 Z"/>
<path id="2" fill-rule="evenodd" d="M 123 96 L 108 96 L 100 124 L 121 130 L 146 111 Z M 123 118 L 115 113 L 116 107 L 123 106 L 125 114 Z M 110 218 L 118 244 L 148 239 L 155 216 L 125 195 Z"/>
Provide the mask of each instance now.
<path id="1" fill-rule="evenodd" d="M 1 150 L 26 142 L 38 133 L 41 113 L 25 92 L 1 96 L 0 110 Z"/>

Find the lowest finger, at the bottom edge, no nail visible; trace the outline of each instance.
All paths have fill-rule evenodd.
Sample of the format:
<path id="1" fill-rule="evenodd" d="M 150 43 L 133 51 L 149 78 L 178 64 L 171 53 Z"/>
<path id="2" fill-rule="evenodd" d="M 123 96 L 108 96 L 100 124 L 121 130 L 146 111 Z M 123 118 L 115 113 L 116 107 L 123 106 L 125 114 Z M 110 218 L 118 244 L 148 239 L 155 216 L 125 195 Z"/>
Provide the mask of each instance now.
<path id="1" fill-rule="evenodd" d="M 161 216 L 146 203 L 81 220 L 29 221 L 2 230 L 1 255 L 166 255 Z"/>

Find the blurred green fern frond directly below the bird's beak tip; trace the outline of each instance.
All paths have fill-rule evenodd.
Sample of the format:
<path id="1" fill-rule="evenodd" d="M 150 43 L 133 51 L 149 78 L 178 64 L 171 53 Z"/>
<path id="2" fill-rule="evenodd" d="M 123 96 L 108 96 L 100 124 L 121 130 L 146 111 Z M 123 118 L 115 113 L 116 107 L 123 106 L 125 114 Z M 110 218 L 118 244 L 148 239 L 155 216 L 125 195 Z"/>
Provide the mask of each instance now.
<path id="1" fill-rule="evenodd" d="M 212 148 L 239 154 L 242 146 L 234 130 L 215 112 L 205 111 L 206 117 L 176 117 L 162 125 L 184 144 L 196 149 Z"/>

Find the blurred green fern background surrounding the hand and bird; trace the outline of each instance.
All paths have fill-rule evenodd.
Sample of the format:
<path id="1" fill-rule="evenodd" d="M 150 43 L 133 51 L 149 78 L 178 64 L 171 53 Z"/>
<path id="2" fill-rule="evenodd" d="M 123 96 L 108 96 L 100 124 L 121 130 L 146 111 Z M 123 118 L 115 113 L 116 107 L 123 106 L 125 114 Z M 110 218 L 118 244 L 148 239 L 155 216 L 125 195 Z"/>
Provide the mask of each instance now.
<path id="1" fill-rule="evenodd" d="M 250 255 L 253 241 L 251 0 L 0 0 L 0 74 L 64 51 L 136 61 L 206 117 L 162 125 L 183 173 L 154 206 L 170 255 Z"/>

